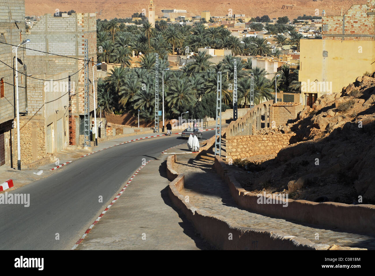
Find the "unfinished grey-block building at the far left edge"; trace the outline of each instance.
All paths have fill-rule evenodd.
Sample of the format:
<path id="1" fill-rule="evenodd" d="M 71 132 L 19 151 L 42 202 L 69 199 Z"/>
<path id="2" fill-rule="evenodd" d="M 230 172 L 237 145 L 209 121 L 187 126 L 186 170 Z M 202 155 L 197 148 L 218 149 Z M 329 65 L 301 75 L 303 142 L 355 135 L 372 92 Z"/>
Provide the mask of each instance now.
<path id="1" fill-rule="evenodd" d="M 13 57 L 15 47 L 22 42 L 24 37 L 25 2 L 24 0 L 0 1 L 0 166 L 10 166 L 15 159 L 17 167 L 17 136 L 14 139 L 14 129 L 17 122 L 15 110 L 15 89 L 13 86 Z M 21 23 L 16 23 L 21 22 Z M 18 58 L 24 62 L 24 51 L 18 48 Z M 23 66 L 18 63 L 18 71 L 23 72 Z M 19 107 L 20 112 L 26 112 L 25 106 L 25 80 L 21 73 L 18 74 Z"/>

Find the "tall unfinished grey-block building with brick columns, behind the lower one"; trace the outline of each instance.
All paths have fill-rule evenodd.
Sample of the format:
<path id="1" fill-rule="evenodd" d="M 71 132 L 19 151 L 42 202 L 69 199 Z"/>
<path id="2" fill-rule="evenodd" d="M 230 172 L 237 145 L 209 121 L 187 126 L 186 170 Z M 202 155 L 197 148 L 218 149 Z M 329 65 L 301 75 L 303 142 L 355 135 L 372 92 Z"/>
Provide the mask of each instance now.
<path id="1" fill-rule="evenodd" d="M 73 13 L 64 17 L 46 14 L 26 34 L 26 61 L 28 72 L 33 75 L 51 76 L 68 71 L 71 76 L 63 81 L 71 82 L 69 95 L 69 144 L 83 144 L 84 135 L 84 40 L 88 40 L 89 59 L 96 61 L 96 14 Z M 36 52 L 34 50 L 43 52 Z M 62 56 L 52 55 L 54 53 Z M 32 65 L 32 67 L 31 67 Z M 82 69 L 82 70 L 81 70 Z M 96 66 L 94 76 L 97 83 Z M 92 93 L 92 64 L 89 66 L 89 110 L 92 122 L 94 98 Z M 41 79 L 46 79 L 42 77 Z M 57 80 L 56 78 L 52 78 Z M 96 94 L 97 95 L 97 94 Z M 97 101 L 96 101 L 97 103 Z M 59 107 L 59 112 L 60 107 Z"/>

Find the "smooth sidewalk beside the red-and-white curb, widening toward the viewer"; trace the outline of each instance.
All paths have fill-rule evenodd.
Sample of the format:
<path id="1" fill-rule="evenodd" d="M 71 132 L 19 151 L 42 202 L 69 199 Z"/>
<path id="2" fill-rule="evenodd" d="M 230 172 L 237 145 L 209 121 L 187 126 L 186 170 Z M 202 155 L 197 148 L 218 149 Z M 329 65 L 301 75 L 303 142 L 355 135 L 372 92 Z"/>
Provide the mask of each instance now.
<path id="1" fill-rule="evenodd" d="M 209 249 L 169 200 L 168 184 L 166 161 L 147 163 L 76 249 Z"/>

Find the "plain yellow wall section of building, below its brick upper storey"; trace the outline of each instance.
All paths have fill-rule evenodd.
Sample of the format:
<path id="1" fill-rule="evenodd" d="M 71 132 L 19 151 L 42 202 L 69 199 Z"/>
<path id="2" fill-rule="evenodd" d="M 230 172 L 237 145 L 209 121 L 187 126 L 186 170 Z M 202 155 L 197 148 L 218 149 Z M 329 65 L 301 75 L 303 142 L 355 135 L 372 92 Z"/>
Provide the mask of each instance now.
<path id="1" fill-rule="evenodd" d="M 341 92 L 366 71 L 374 72 L 374 60 L 372 40 L 301 39 L 299 81 L 303 104 L 312 105 L 324 93 Z"/>

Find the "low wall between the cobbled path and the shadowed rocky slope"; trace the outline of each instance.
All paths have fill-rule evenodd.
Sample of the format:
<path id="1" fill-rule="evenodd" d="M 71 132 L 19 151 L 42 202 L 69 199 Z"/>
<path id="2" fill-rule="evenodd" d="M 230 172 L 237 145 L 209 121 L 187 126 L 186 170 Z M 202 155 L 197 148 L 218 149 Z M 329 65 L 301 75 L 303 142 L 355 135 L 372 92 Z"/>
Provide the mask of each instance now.
<path id="1" fill-rule="evenodd" d="M 375 205 L 323 202 L 288 199 L 288 207 L 282 204 L 258 204 L 256 194 L 246 191 L 228 172 L 225 162 L 216 156 L 214 168 L 229 187 L 236 203 L 251 212 L 266 214 L 272 217 L 296 220 L 321 226 L 337 227 L 355 233 L 375 233 Z"/>

